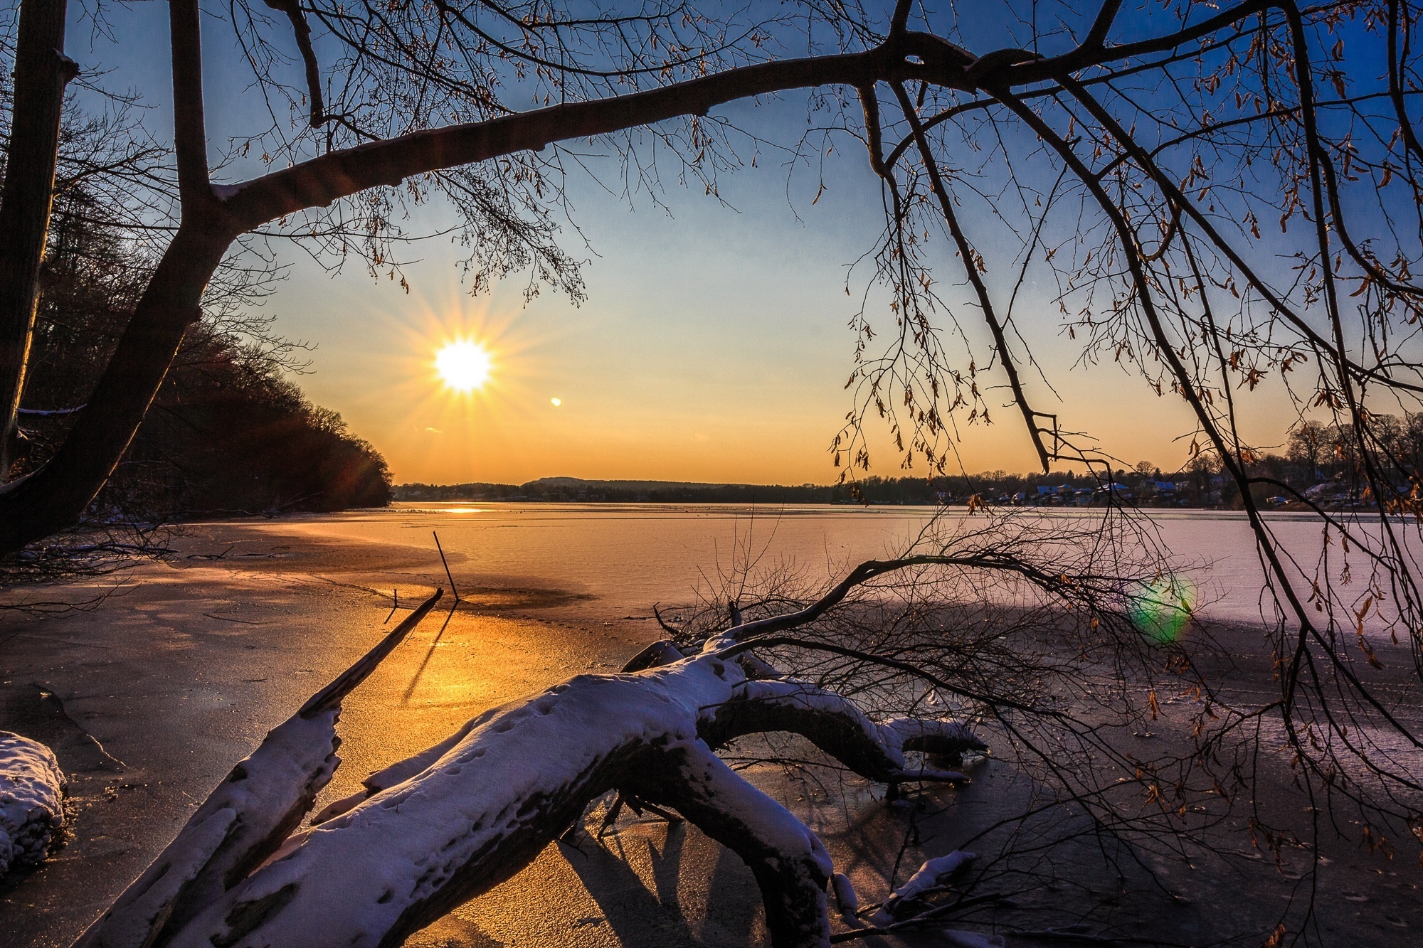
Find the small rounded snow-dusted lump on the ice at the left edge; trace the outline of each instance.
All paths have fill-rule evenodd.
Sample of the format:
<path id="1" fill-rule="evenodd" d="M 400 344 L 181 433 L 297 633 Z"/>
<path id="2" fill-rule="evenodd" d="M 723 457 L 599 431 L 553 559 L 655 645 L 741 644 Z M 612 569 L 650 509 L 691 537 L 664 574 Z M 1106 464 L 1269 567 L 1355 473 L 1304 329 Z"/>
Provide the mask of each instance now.
<path id="1" fill-rule="evenodd" d="M 64 827 L 65 787 L 53 750 L 0 730 L 0 875 L 48 854 Z"/>

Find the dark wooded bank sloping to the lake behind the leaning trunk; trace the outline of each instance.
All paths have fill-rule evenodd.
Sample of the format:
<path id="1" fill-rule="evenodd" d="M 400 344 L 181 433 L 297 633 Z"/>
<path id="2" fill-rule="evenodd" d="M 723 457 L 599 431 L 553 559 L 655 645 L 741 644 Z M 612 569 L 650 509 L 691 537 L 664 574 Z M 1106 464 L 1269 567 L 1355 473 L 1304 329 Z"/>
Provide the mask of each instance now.
<path id="1" fill-rule="evenodd" d="M 139 251 L 102 218 L 83 189 L 55 196 L 11 475 L 63 440 L 147 280 Z M 252 293 L 232 279 L 209 295 L 92 512 L 152 521 L 388 504 L 384 458 L 285 377 L 295 347 L 246 315 Z"/>

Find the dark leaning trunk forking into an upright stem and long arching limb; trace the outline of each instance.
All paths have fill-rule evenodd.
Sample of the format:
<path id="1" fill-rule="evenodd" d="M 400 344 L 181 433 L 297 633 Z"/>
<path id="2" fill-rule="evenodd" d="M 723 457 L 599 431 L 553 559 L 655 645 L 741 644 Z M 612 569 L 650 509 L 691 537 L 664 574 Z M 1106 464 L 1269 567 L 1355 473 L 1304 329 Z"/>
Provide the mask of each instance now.
<path id="1" fill-rule="evenodd" d="M 430 171 L 515 151 L 539 151 L 554 141 L 650 125 L 679 115 L 704 115 L 713 105 L 768 93 L 909 80 L 921 77 L 922 70 L 928 70 L 935 83 L 972 88 L 963 84 L 972 56 L 929 34 L 905 34 L 864 53 L 776 60 L 626 95 L 423 130 L 326 152 L 240 185 L 213 188 L 206 167 L 196 6 L 191 0 L 171 0 L 169 9 L 181 225 L 64 446 L 38 471 L 0 483 L 0 555 L 80 520 L 144 420 L 184 332 L 201 315 L 202 290 L 222 255 L 243 232 L 367 188 L 396 186 Z M 909 54 L 924 63 L 908 61 Z M 33 302 L 30 312 L 33 315 Z M 16 362 L 17 370 L 23 370 L 23 353 L 16 353 Z"/>

